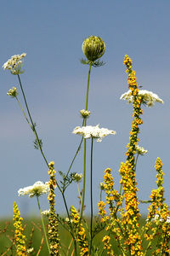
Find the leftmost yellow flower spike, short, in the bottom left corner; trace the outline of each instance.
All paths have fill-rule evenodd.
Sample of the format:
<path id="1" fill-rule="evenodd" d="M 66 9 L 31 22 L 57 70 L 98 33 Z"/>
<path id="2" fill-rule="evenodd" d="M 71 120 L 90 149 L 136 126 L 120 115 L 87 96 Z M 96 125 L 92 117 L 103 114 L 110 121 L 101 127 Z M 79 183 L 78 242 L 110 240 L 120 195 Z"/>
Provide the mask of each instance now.
<path id="1" fill-rule="evenodd" d="M 22 227 L 23 218 L 20 217 L 20 211 L 17 204 L 14 202 L 14 241 L 16 244 L 16 254 L 19 256 L 27 255 L 26 253 L 26 236 L 23 235 L 24 228 Z"/>

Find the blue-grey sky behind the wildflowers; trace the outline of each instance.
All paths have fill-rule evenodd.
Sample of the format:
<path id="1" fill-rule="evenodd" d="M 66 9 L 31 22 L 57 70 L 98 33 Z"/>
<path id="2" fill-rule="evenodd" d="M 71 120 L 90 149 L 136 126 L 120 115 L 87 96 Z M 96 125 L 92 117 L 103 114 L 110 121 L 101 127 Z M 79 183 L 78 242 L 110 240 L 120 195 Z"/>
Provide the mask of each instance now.
<path id="1" fill-rule="evenodd" d="M 93 68 L 90 80 L 88 125 L 116 130 L 116 136 L 94 143 L 94 207 L 97 212 L 99 182 L 106 167 L 111 167 L 119 187 L 119 167 L 125 160 L 132 121 L 132 106 L 120 101 L 127 91 L 125 54 L 133 59 L 138 84 L 158 94 L 164 104 L 144 107 L 139 145 L 148 154 L 139 158 L 137 180 L 139 199 L 149 198 L 156 188 L 156 157 L 163 161 L 164 185 L 169 204 L 169 1 L 3 1 L 0 10 L 1 66 L 11 55 L 26 52 L 25 73 L 21 80 L 37 131 L 43 141 L 48 162 L 55 170 L 66 172 L 81 139 L 71 131 L 81 125 L 79 110 L 85 108 L 88 66 L 80 63 L 82 41 L 100 36 L 106 44 L 104 67 Z M 14 99 L 6 95 L 17 78 L 0 70 L 0 157 L 1 212 L 13 214 L 13 201 L 21 214 L 37 213 L 35 199 L 18 197 L 17 191 L 38 180 L 48 180 L 48 170 L 39 151 L 33 148 L 33 134 Z M 21 99 L 21 94 L 19 95 Z M 21 100 L 22 101 L 22 100 Z M 88 143 L 89 148 L 89 143 Z M 72 172 L 82 172 L 82 151 Z M 88 153 L 89 184 L 89 153 Z M 59 179 L 59 176 L 57 175 Z M 87 184 L 87 185 L 88 185 Z M 77 185 L 66 194 L 68 205 L 77 207 Z M 42 209 L 48 207 L 46 196 Z M 89 186 L 86 194 L 89 212 Z M 147 207 L 140 206 L 141 212 Z M 56 210 L 65 212 L 56 190 Z"/>

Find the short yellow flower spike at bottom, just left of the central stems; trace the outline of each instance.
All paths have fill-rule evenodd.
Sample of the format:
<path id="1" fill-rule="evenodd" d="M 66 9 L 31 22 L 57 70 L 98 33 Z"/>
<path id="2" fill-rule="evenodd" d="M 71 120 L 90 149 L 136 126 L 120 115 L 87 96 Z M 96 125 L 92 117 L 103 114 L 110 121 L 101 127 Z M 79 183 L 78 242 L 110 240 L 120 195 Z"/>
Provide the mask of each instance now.
<path id="1" fill-rule="evenodd" d="M 75 229 L 77 231 L 77 241 L 79 242 L 80 247 L 80 256 L 88 256 L 88 239 L 85 234 L 85 229 L 80 223 L 80 216 L 77 212 L 77 209 L 71 206 L 71 220 L 72 223 L 75 224 Z"/>

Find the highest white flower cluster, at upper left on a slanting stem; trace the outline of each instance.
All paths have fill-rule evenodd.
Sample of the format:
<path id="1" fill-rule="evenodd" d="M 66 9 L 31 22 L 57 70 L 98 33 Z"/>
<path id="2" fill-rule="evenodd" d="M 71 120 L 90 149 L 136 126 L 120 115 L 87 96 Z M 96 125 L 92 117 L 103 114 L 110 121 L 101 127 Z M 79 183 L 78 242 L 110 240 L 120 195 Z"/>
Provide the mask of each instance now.
<path id="1" fill-rule="evenodd" d="M 3 69 L 8 69 L 12 74 L 15 75 L 23 73 L 23 71 L 21 71 L 21 68 L 22 59 L 24 57 L 26 57 L 26 53 L 11 56 L 11 58 L 3 64 Z"/>

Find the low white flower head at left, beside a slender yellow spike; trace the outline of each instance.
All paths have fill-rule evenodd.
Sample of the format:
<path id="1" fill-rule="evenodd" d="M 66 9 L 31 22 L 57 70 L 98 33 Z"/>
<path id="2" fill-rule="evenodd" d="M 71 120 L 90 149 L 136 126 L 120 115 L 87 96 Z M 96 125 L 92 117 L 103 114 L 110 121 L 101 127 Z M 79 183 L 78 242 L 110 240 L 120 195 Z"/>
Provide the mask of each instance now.
<path id="1" fill-rule="evenodd" d="M 41 181 L 37 181 L 32 186 L 26 187 L 24 189 L 19 189 L 18 194 L 20 195 L 29 195 L 30 197 L 33 196 L 40 196 L 42 194 L 47 194 L 49 190 L 48 182 L 42 183 Z"/>

